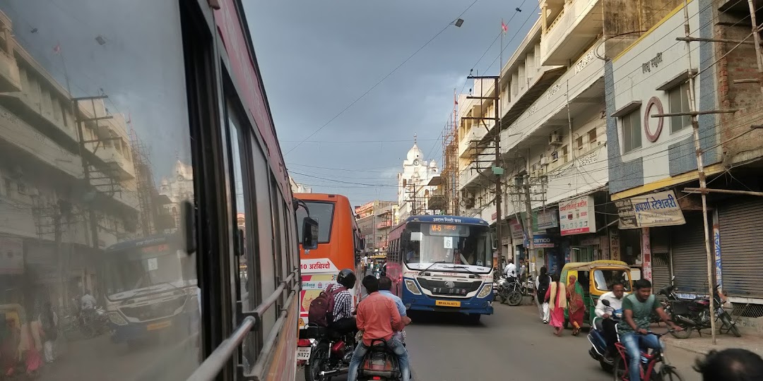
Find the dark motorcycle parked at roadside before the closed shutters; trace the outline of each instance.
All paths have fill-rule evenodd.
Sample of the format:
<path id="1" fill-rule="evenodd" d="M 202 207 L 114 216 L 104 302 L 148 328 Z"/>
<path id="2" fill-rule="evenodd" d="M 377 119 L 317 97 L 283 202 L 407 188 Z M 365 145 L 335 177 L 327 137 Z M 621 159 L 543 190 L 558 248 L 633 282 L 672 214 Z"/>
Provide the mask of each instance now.
<path id="1" fill-rule="evenodd" d="M 670 285 L 663 287 L 659 291 L 660 294 L 668 298 L 668 308 L 665 312 L 671 316 L 671 319 L 677 325 L 684 328 L 683 331 L 671 331 L 671 335 L 674 338 L 689 338 L 692 330 L 697 330 L 700 336 L 702 336 L 701 330 L 711 327 L 710 319 L 715 319 L 716 322 L 720 320 L 722 323 L 721 331 L 725 328 L 726 332 L 731 332 L 737 338 L 742 337 L 742 333 L 739 332 L 739 328 L 736 327 L 736 323 L 731 319 L 729 312 L 723 309 L 723 299 L 720 296 L 719 287 L 720 284 L 716 285 L 713 289 L 715 311 L 712 314 L 710 312 L 709 298 L 679 299 L 675 293 L 678 289 L 674 286 L 672 280 Z"/>

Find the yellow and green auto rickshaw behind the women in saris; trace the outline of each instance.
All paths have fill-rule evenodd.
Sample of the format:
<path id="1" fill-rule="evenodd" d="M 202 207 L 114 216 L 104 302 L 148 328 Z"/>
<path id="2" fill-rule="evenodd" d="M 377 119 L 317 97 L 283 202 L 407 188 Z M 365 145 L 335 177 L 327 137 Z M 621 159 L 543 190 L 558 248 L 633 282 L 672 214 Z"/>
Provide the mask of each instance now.
<path id="1" fill-rule="evenodd" d="M 592 261 L 571 262 L 562 267 L 559 280 L 569 286 L 571 275 L 578 278 L 578 283 L 583 288 L 583 301 L 586 314 L 583 322 L 590 325 L 596 316 L 596 303 L 599 297 L 612 290 L 612 285 L 621 282 L 625 285 L 626 293 L 633 289 L 633 277 L 631 269 L 623 261 Z M 568 311 L 565 309 L 565 328 L 569 325 Z"/>

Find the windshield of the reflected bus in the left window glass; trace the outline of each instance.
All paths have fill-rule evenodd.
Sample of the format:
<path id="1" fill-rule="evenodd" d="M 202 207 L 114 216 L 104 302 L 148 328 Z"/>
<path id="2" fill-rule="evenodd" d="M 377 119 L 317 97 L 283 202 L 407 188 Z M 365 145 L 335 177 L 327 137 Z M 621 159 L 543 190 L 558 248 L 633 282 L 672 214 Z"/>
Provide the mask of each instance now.
<path id="1" fill-rule="evenodd" d="M 180 287 L 184 260 L 168 243 L 121 248 L 110 251 L 105 261 L 106 297 L 124 299 L 150 293 L 155 286 L 161 290 Z M 187 264 L 185 264 L 187 265 Z"/>

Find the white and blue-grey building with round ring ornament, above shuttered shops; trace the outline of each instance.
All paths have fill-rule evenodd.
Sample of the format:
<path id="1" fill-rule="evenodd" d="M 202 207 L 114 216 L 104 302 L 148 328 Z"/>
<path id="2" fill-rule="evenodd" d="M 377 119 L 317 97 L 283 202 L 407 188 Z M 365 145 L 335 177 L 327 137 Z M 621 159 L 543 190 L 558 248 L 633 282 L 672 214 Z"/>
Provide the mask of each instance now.
<path id="1" fill-rule="evenodd" d="M 610 199 L 620 251 L 660 287 L 675 277 L 684 293 L 706 294 L 720 284 L 739 323 L 763 329 L 763 213 L 758 180 L 763 154 L 760 78 L 747 2 L 672 4 L 639 40 L 605 65 Z M 687 43 L 691 37 L 726 42 Z M 747 40 L 748 44 L 737 43 Z M 730 42 L 733 41 L 733 42 Z M 691 77 L 691 81 L 690 81 Z M 739 83 L 739 80 L 746 80 Z M 693 86 L 692 86 L 693 85 Z M 691 90 L 691 91 L 690 91 Z M 691 95 L 691 97 L 690 97 Z M 707 187 L 739 193 L 707 194 L 710 258 L 692 117 L 655 114 L 698 111 L 697 137 Z M 751 192 L 752 191 L 752 192 Z M 708 280 L 708 263 L 713 264 Z"/>

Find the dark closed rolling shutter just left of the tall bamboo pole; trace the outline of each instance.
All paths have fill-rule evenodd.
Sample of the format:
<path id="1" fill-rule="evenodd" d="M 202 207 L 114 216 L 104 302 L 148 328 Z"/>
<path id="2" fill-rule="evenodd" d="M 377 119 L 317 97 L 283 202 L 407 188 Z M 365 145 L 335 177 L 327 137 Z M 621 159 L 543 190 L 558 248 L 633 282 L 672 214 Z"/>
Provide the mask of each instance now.
<path id="1" fill-rule="evenodd" d="M 686 212 L 670 230 L 675 285 L 679 292 L 707 293 L 707 254 L 702 213 Z"/>

